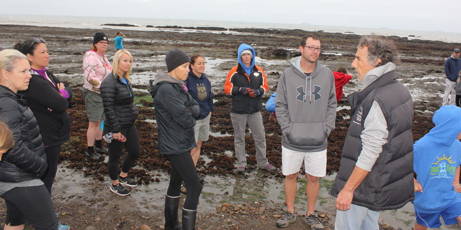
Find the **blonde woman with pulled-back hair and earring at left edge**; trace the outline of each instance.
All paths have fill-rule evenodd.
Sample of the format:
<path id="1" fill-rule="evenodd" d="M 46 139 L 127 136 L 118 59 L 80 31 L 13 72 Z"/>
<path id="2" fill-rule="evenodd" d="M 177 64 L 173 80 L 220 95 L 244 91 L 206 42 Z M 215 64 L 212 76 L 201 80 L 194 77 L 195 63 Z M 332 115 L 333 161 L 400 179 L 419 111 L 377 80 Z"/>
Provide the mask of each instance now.
<path id="1" fill-rule="evenodd" d="M 69 230 L 69 226 L 58 226 L 50 194 L 40 180 L 47 171 L 47 158 L 37 120 L 17 94 L 29 87 L 29 70 L 24 54 L 12 49 L 0 51 L 0 117 L 14 140 L 0 161 L 0 197 L 7 205 L 4 229 L 24 229 L 27 218 L 35 229 Z"/>

